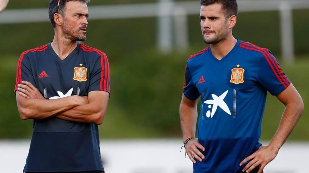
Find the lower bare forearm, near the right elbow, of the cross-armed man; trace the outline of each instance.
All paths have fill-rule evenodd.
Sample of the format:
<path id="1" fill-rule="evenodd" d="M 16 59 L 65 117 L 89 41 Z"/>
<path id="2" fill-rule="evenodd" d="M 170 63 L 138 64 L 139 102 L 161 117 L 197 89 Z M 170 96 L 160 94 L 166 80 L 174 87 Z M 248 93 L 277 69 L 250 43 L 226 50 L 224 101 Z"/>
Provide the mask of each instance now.
<path id="1" fill-rule="evenodd" d="M 67 121 L 101 124 L 104 119 L 104 114 L 105 110 L 101 110 L 94 104 L 88 103 L 61 112 L 56 116 Z"/>

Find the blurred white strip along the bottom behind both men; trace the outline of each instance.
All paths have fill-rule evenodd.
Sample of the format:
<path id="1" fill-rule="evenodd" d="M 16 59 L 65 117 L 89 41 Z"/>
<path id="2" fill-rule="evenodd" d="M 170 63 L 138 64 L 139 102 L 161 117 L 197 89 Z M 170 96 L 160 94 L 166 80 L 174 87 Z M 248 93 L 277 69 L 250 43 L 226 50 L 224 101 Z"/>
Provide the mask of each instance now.
<path id="1" fill-rule="evenodd" d="M 262 142 L 266 145 L 267 142 Z M 21 173 L 30 140 L 0 140 L 1 172 Z M 180 151 L 182 139 L 100 140 L 106 173 L 192 173 Z M 309 143 L 287 142 L 265 167 L 267 173 L 308 173 Z"/>

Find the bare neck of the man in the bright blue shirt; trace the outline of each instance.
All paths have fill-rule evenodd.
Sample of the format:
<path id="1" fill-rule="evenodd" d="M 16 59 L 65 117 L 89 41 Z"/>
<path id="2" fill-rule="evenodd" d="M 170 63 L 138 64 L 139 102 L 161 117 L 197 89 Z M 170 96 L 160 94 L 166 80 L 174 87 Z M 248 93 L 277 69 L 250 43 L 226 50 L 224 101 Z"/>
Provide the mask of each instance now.
<path id="1" fill-rule="evenodd" d="M 229 36 L 221 42 L 218 42 L 216 44 L 210 44 L 211 53 L 218 60 L 221 60 L 234 48 L 236 43 L 237 40 L 233 37 L 232 34 L 229 34 Z"/>

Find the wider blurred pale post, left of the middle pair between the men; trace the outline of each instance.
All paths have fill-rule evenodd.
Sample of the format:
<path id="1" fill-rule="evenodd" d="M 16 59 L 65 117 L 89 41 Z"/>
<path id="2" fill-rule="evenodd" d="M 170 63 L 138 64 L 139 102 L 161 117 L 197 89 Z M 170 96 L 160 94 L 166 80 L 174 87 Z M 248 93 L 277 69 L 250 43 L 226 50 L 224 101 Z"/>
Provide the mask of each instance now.
<path id="1" fill-rule="evenodd" d="M 172 24 L 171 15 L 173 10 L 172 0 L 159 1 L 158 18 L 158 47 L 164 53 L 172 50 Z"/>

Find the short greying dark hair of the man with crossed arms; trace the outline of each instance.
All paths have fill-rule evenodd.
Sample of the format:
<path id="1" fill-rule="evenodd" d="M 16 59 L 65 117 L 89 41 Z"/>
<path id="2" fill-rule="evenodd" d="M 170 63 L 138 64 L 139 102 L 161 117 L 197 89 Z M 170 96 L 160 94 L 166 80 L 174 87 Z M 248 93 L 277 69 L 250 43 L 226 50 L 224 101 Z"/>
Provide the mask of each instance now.
<path id="1" fill-rule="evenodd" d="M 65 15 L 64 9 L 66 6 L 66 2 L 69 2 L 69 1 L 80 1 L 80 2 L 84 2 L 85 4 L 88 4 L 90 2 L 90 0 L 61 0 L 59 3 L 59 7 L 58 7 L 57 6 L 58 0 L 50 0 L 49 5 L 48 5 L 48 15 L 49 15 L 50 23 L 52 24 L 53 28 L 55 28 L 56 26 L 56 23 L 54 21 L 54 14 L 58 13 L 64 16 Z"/>

